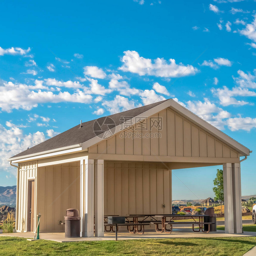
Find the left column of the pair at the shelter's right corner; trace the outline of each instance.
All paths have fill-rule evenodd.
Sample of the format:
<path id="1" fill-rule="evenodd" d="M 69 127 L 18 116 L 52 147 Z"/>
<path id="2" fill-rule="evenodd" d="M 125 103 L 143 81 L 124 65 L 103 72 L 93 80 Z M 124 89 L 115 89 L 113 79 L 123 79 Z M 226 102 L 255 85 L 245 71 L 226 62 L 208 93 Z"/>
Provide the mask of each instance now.
<path id="1" fill-rule="evenodd" d="M 232 165 L 223 164 L 225 233 L 234 233 Z"/>

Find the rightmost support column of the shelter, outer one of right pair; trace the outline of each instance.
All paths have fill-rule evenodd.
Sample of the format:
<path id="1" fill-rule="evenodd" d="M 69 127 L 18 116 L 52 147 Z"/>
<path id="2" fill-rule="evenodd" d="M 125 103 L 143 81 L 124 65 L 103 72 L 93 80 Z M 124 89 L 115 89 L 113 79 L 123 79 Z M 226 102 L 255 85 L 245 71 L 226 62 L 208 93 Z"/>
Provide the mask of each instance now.
<path id="1" fill-rule="evenodd" d="M 233 188 L 233 215 L 234 232 L 242 233 L 242 206 L 241 206 L 241 168 L 240 163 L 232 163 Z"/>

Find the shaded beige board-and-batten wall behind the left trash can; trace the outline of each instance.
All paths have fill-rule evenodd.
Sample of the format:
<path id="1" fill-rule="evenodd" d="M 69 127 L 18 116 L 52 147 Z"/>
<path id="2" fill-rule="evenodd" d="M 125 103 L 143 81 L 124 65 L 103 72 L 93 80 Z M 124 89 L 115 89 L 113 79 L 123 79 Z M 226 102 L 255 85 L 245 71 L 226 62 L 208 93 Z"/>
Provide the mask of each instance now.
<path id="1" fill-rule="evenodd" d="M 80 162 L 38 168 L 38 204 L 40 231 L 64 231 L 68 208 L 80 213 Z"/>

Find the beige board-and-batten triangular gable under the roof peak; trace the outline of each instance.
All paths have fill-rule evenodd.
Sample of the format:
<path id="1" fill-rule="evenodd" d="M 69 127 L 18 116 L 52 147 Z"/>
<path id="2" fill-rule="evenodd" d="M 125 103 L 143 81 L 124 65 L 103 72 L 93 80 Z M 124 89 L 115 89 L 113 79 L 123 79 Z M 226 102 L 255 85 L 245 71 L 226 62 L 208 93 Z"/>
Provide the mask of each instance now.
<path id="1" fill-rule="evenodd" d="M 211 162 L 210 159 L 218 158 L 218 160 L 215 160 L 216 163 L 224 163 L 227 159 L 229 162 L 234 163 L 239 161 L 239 154 L 235 149 L 232 149 L 170 108 L 166 108 L 147 118 L 148 123 L 150 123 L 151 118 L 161 118 L 162 128 L 157 129 L 154 127 L 150 130 L 148 125 L 147 129 L 138 129 L 140 123 L 135 124 L 109 139 L 90 146 L 88 149 L 89 158 L 97 157 L 100 154 L 103 159 L 107 160 L 104 155 L 116 154 L 120 155 L 120 160 L 124 160 L 121 155 L 126 155 L 127 160 L 134 159 L 136 156 L 138 160 L 141 160 L 139 156 L 143 155 L 145 158 L 147 156 L 155 156 L 154 161 L 159 161 L 156 156 L 167 156 L 164 161 L 168 161 L 168 156 L 170 156 L 169 159 L 172 162 L 176 160 L 187 162 L 193 158 L 204 158 L 205 162 Z M 128 138 L 124 136 L 124 132 L 137 133 L 138 136 Z M 152 136 L 151 134 L 160 135 L 150 138 L 149 134 L 150 136 Z M 223 161 L 221 158 L 223 158 Z M 118 160 L 118 156 L 111 160 Z"/>

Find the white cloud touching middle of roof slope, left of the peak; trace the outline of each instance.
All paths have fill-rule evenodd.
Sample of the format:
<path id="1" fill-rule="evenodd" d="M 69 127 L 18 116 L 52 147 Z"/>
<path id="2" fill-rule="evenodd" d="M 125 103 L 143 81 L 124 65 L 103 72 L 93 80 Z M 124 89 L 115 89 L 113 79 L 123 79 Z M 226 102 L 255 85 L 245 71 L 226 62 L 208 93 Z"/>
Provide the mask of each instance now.
<path id="1" fill-rule="evenodd" d="M 129 100 L 123 96 L 116 95 L 115 99 L 112 101 L 104 101 L 104 105 L 108 107 L 111 114 L 115 114 L 121 111 L 133 109 L 135 107 L 140 107 L 141 104 L 135 106 L 134 100 Z"/>

